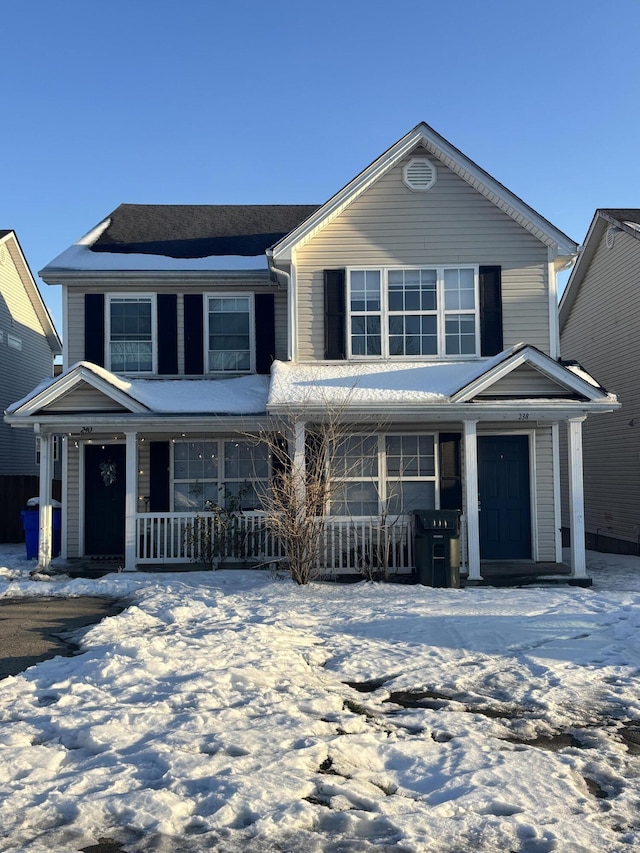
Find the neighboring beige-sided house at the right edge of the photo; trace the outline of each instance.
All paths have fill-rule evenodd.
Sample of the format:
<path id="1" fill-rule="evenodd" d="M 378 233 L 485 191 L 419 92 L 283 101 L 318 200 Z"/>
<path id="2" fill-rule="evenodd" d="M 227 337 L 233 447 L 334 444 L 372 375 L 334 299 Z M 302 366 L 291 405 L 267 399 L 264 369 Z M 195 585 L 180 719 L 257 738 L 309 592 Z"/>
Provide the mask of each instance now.
<path id="1" fill-rule="evenodd" d="M 596 210 L 560 302 L 563 352 L 622 409 L 584 425 L 587 547 L 640 553 L 640 209 Z M 571 527 L 564 501 L 563 525 Z"/>

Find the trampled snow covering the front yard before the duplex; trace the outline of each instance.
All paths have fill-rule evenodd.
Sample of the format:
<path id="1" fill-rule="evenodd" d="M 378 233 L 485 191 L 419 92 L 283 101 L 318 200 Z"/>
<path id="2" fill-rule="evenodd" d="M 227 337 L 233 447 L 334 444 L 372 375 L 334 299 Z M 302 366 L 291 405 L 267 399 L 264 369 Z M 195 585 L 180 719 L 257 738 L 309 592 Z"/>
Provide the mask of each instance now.
<path id="1" fill-rule="evenodd" d="M 35 581 L 23 547 L 0 599 L 132 603 L 0 682 L 0 850 L 640 849 L 640 558 L 434 590 Z"/>

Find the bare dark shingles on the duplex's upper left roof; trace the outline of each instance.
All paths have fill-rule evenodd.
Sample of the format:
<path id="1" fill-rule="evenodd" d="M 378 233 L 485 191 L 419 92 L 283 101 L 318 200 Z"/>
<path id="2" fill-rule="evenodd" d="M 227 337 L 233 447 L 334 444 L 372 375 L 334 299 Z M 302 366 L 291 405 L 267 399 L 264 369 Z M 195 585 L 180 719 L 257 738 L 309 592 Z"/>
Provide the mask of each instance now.
<path id="1" fill-rule="evenodd" d="M 121 204 L 93 252 L 205 258 L 262 255 L 318 205 Z"/>

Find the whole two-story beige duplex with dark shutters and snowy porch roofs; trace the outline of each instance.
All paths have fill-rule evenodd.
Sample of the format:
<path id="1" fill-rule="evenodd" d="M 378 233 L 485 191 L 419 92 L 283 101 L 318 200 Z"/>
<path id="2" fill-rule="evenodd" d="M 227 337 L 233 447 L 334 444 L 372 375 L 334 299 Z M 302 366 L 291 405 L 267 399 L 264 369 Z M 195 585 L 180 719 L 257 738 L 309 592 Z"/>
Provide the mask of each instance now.
<path id="1" fill-rule="evenodd" d="M 43 436 L 45 484 L 44 436 L 65 436 L 63 556 L 188 561 L 185 527 L 223 487 L 260 517 L 271 460 L 247 435 L 293 416 L 301 465 L 337 407 L 353 435 L 327 570 L 357 568 L 344 543 L 386 510 L 410 569 L 415 508 L 464 512 L 472 581 L 483 561 L 560 562 L 559 432 L 579 530 L 582 420 L 618 405 L 559 361 L 576 251 L 426 124 L 320 207 L 120 206 L 41 272 L 63 287 L 65 370 L 7 415 Z M 276 555 L 253 541 L 245 557 Z M 572 551 L 585 578 L 582 536 Z"/>

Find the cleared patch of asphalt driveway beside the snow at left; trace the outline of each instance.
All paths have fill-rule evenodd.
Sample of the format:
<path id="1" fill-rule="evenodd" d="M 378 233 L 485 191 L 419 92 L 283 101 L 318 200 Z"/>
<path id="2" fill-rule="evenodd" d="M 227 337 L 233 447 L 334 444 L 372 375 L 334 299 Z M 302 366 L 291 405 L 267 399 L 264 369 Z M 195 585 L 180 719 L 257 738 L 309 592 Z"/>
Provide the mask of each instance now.
<path id="1" fill-rule="evenodd" d="M 21 598 L 0 601 L 0 678 L 56 655 L 72 655 L 69 634 L 122 612 L 110 598 Z"/>

